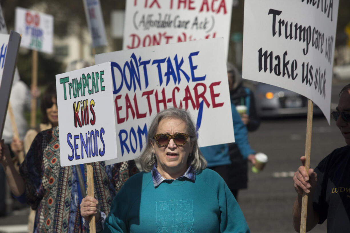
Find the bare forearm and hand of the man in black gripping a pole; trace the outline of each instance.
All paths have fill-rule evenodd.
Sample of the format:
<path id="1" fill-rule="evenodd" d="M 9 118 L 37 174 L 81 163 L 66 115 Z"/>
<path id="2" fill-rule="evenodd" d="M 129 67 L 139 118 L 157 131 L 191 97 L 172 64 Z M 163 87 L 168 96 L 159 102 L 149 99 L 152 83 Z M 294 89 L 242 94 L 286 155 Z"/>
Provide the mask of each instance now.
<path id="1" fill-rule="evenodd" d="M 302 195 L 303 192 L 306 192 L 308 195 L 307 203 L 307 219 L 306 219 L 306 231 L 310 231 L 318 223 L 318 213 L 314 211 L 312 206 L 312 197 L 314 194 L 315 186 L 317 183 L 317 174 L 313 169 L 309 169 L 306 172 L 304 163 L 305 157 L 300 158 L 303 163 L 302 166 L 295 172 L 293 181 L 294 189 L 297 193 L 297 198 L 295 199 L 293 205 L 293 226 L 296 232 L 300 232 L 300 221 L 301 221 L 301 205 L 302 205 Z"/>

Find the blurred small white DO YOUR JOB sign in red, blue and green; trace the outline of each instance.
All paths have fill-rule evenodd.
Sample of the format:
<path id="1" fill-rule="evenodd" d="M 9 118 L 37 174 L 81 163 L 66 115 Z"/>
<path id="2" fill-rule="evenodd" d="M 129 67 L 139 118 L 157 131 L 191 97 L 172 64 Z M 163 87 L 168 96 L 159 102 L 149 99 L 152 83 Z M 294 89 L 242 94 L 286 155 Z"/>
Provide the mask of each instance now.
<path id="1" fill-rule="evenodd" d="M 52 54 L 54 17 L 16 7 L 15 31 L 22 35 L 21 47 Z"/>

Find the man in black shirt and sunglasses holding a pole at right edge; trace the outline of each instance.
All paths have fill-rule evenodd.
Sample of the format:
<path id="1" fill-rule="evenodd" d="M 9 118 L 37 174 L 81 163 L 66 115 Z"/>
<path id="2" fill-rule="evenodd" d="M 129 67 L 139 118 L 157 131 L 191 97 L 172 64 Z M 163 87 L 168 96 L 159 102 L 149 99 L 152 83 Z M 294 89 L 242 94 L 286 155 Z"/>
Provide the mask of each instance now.
<path id="1" fill-rule="evenodd" d="M 302 166 L 293 181 L 297 198 L 293 206 L 293 224 L 300 231 L 303 192 L 308 193 L 306 231 L 327 220 L 327 232 L 349 232 L 350 229 L 350 84 L 339 93 L 339 103 L 332 115 L 344 136 L 347 146 L 335 149 L 315 168 Z"/>

